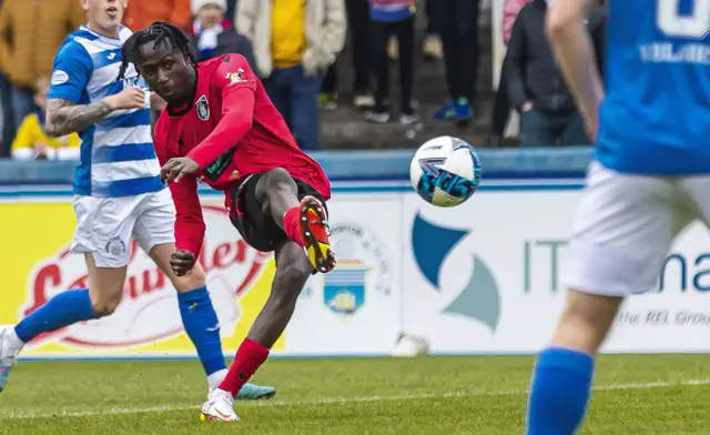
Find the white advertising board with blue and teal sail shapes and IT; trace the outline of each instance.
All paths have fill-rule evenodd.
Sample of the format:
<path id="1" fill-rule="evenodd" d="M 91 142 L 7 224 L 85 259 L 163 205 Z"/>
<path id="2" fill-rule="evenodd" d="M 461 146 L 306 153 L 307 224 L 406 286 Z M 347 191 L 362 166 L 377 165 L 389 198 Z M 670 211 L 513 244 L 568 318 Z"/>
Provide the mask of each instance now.
<path id="1" fill-rule="evenodd" d="M 559 272 L 579 190 L 479 192 L 460 209 L 405 201 L 404 328 L 438 353 L 532 353 L 565 297 Z M 704 352 L 710 328 L 710 234 L 674 243 L 659 290 L 629 299 L 605 352 Z"/>

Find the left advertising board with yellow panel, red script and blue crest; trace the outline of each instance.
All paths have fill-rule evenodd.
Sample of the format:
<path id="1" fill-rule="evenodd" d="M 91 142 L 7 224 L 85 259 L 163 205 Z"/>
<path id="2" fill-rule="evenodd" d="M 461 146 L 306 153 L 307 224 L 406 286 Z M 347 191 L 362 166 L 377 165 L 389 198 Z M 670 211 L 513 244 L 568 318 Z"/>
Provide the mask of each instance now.
<path id="1" fill-rule="evenodd" d="M 206 234 L 200 263 L 233 354 L 264 305 L 274 276 L 272 254 L 250 247 L 230 223 L 222 198 L 203 195 Z M 346 194 L 328 203 L 336 271 L 314 275 L 275 355 L 386 354 L 399 333 L 402 239 L 397 195 Z M 374 208 L 372 212 L 364 212 Z M 341 218 L 342 216 L 342 218 Z M 0 324 L 14 324 L 59 292 L 87 287 L 81 255 L 69 253 L 75 227 L 71 196 L 58 192 L 7 194 L 0 202 L 3 289 Z M 33 341 L 26 357 L 175 357 L 194 350 L 182 328 L 170 281 L 135 244 L 116 312 Z"/>

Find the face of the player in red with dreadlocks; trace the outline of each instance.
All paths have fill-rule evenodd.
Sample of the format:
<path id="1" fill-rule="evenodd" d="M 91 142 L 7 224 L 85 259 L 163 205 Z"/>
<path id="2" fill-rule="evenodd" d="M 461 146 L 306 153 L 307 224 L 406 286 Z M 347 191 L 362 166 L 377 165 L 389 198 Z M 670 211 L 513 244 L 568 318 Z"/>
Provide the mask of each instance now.
<path id="1" fill-rule="evenodd" d="M 182 105 L 192 99 L 193 67 L 170 42 L 153 47 L 153 42 L 139 48 L 136 67 L 151 90 L 171 105 Z"/>

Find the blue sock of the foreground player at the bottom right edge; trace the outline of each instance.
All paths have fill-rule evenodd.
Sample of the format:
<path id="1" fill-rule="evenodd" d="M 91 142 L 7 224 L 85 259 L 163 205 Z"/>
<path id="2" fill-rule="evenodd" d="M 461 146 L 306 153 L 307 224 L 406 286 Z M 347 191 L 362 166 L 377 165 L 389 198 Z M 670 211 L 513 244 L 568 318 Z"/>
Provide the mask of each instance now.
<path id="1" fill-rule="evenodd" d="M 585 419 L 594 358 L 550 347 L 538 356 L 528 399 L 527 435 L 572 435 Z"/>

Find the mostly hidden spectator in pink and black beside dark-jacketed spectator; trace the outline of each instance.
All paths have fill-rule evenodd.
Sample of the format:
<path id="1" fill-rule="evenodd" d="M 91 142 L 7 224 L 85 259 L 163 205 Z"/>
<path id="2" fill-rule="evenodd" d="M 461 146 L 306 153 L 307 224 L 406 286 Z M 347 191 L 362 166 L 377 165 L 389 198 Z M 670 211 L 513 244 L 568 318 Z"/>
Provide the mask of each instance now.
<path id="1" fill-rule="evenodd" d="M 513 23 L 520 13 L 520 9 L 532 0 L 505 0 L 503 14 L 503 43 L 507 47 L 513 31 Z M 508 75 L 506 73 L 507 55 L 503 60 L 500 78 L 498 79 L 498 90 L 493 107 L 493 122 L 490 125 L 490 138 L 488 144 L 498 146 L 503 142 L 503 134 L 510 115 L 510 98 L 508 97 Z"/>

